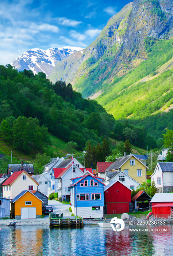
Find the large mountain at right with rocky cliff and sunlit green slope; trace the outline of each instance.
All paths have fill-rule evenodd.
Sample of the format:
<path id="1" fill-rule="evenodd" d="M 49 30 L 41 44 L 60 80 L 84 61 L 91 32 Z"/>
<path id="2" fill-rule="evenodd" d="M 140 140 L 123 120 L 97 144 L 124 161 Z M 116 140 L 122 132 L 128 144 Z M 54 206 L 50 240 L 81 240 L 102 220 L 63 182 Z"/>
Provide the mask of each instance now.
<path id="1" fill-rule="evenodd" d="M 140 118 L 136 113 L 139 108 L 143 108 L 144 114 L 156 113 L 171 104 L 170 97 L 168 106 L 165 106 L 166 99 L 162 104 L 157 105 L 157 102 L 160 97 L 166 97 L 166 91 L 172 90 L 172 83 L 168 82 L 169 89 L 157 90 L 157 95 L 155 92 L 158 79 L 163 81 L 164 76 L 158 69 L 166 66 L 173 56 L 172 36 L 172 1 L 134 0 L 108 20 L 100 35 L 78 59 L 72 63 L 70 56 L 57 63 L 49 78 L 71 82 L 85 98 L 97 97 L 115 118 L 133 118 L 135 114 L 135 118 Z M 62 67 L 63 74 L 59 72 Z M 157 76 L 153 72 L 158 73 Z M 145 79 L 148 75 L 152 83 Z M 148 104 L 155 104 L 151 108 L 153 112 L 151 109 L 145 112 Z"/>

